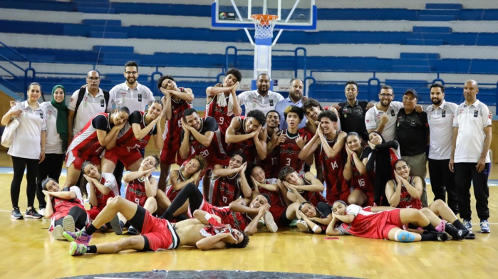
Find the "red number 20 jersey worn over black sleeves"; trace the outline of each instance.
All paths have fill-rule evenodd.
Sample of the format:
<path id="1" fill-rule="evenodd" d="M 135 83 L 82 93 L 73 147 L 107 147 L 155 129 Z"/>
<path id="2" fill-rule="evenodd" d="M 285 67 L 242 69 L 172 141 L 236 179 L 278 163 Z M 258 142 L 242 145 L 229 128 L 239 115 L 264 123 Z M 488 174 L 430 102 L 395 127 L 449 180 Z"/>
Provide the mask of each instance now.
<path id="1" fill-rule="evenodd" d="M 199 133 L 204 135 L 206 132 L 214 132 L 214 137 L 209 146 L 204 146 L 200 143 L 192 134 L 190 134 L 189 142 L 190 148 L 194 150 L 195 154 L 199 154 L 204 157 L 208 164 L 217 164 L 217 162 L 224 163 L 227 158 L 227 153 L 223 148 L 222 143 L 222 133 L 219 131 L 218 124 L 213 117 L 201 117 L 201 129 Z M 182 135 L 180 141 L 183 139 L 184 132 L 182 130 Z M 180 147 L 179 147 L 180 148 Z"/>

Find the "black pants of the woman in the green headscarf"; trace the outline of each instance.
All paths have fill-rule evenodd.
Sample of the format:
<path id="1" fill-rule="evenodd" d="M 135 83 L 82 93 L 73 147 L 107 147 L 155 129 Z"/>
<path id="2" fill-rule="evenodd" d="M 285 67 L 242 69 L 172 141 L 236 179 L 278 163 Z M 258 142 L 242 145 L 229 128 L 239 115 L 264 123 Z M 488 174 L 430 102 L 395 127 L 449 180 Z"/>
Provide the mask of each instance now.
<path id="1" fill-rule="evenodd" d="M 41 181 L 50 177 L 59 183 L 61 177 L 62 165 L 66 154 L 45 154 L 45 159 L 38 164 L 38 175 L 36 176 L 36 199 L 41 209 L 46 207 L 45 195 L 41 191 Z"/>

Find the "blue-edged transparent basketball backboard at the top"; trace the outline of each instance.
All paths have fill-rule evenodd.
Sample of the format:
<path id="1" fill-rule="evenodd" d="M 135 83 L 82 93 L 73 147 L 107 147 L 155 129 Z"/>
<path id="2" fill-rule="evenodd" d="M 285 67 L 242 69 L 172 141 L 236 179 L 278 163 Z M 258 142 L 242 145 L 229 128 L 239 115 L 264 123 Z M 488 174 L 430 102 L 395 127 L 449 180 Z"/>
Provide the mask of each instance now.
<path id="1" fill-rule="evenodd" d="M 279 16 L 275 29 L 316 29 L 315 0 L 215 0 L 211 23 L 214 27 L 254 28 L 252 14 Z"/>

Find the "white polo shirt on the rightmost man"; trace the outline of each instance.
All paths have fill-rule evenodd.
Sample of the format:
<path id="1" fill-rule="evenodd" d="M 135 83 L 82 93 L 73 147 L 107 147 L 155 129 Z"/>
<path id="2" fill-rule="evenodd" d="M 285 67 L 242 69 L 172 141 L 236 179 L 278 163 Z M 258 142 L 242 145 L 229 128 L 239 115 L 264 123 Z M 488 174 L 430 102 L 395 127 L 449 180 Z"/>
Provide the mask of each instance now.
<path id="1" fill-rule="evenodd" d="M 475 163 L 481 157 L 484 149 L 484 127 L 491 125 L 491 115 L 487 105 L 476 100 L 472 105 L 465 102 L 457 108 L 453 119 L 453 127 L 458 128 L 457 146 L 455 148 L 455 163 Z M 486 154 L 489 163 L 489 152 Z"/>

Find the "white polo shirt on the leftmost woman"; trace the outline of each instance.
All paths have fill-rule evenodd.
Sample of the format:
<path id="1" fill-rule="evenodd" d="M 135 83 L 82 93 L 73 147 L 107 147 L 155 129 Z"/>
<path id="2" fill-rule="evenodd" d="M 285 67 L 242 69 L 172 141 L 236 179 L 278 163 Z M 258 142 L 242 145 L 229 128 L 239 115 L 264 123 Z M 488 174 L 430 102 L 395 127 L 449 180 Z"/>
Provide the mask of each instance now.
<path id="1" fill-rule="evenodd" d="M 14 141 L 7 154 L 26 159 L 40 159 L 41 131 L 47 130 L 45 110 L 38 105 L 32 110 L 28 101 L 19 102 L 11 110 L 22 110 L 21 125 L 14 132 Z"/>

